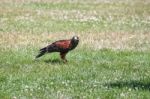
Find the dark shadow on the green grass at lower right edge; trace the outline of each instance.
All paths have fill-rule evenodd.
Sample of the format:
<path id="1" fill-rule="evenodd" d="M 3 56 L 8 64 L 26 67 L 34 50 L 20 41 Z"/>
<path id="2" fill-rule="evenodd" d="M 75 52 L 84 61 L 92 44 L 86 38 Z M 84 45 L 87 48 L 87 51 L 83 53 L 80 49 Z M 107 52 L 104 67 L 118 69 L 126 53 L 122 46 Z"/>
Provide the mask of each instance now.
<path id="1" fill-rule="evenodd" d="M 117 81 L 112 83 L 105 83 L 104 86 L 108 88 L 131 88 L 131 89 L 141 89 L 141 90 L 149 90 L 150 91 L 150 83 L 144 81 Z"/>

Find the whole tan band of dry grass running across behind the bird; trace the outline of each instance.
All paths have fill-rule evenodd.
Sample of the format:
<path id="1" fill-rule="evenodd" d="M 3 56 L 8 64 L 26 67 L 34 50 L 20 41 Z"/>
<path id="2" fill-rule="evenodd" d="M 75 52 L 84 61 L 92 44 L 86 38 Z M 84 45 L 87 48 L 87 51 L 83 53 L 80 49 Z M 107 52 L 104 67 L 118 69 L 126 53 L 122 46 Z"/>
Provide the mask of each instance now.
<path id="1" fill-rule="evenodd" d="M 43 47 L 60 40 L 70 39 L 73 35 L 80 37 L 80 47 L 99 50 L 102 48 L 148 50 L 150 48 L 150 33 L 1 33 L 1 48 Z"/>

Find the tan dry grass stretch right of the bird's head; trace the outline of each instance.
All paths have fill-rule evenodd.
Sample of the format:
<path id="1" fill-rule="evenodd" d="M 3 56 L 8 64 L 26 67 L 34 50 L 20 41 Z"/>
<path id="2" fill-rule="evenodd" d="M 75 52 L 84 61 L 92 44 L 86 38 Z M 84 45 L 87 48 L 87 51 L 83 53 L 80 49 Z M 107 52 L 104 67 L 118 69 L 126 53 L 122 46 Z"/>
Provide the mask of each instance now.
<path id="1" fill-rule="evenodd" d="M 86 36 L 85 36 L 86 35 Z M 82 45 L 94 49 L 148 50 L 150 33 L 88 33 L 82 34 Z"/>

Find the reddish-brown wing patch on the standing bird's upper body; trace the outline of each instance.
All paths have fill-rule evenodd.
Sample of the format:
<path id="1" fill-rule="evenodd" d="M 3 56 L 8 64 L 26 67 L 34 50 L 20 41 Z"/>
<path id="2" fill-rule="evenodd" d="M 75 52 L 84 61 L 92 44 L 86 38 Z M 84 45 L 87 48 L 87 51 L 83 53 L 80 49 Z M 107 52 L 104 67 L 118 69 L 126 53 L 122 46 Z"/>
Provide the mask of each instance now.
<path id="1" fill-rule="evenodd" d="M 70 40 L 60 40 L 60 41 L 57 41 L 53 44 L 55 44 L 56 46 L 58 46 L 59 48 L 69 48 L 69 45 L 70 45 L 71 41 Z"/>

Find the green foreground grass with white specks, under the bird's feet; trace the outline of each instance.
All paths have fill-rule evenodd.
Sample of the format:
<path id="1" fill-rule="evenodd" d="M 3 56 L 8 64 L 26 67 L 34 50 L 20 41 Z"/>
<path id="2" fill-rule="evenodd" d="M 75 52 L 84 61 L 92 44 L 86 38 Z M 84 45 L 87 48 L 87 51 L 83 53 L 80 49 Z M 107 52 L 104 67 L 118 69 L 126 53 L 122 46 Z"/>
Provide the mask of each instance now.
<path id="1" fill-rule="evenodd" d="M 0 54 L 1 97 L 149 97 L 149 52 L 76 50 L 63 64 L 57 54 L 34 61 L 28 50 Z"/>

